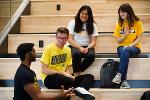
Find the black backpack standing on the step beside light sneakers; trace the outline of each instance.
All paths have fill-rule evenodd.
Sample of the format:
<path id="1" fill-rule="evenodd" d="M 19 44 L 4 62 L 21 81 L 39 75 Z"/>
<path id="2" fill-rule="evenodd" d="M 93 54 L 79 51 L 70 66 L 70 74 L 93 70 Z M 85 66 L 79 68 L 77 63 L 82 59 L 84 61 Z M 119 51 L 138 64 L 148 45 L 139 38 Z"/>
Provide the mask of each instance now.
<path id="1" fill-rule="evenodd" d="M 113 83 L 112 80 L 118 72 L 119 62 L 108 59 L 100 69 L 100 87 L 120 88 L 120 84 Z"/>

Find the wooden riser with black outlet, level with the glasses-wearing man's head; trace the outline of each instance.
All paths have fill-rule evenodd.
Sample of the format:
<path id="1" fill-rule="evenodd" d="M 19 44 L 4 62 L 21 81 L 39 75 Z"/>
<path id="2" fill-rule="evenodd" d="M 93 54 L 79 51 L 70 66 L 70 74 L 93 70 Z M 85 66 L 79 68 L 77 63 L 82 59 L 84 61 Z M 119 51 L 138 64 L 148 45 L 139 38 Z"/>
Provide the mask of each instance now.
<path id="1" fill-rule="evenodd" d="M 16 48 L 24 42 L 35 44 L 37 53 L 42 53 L 43 48 L 51 42 L 56 41 L 55 34 L 9 34 L 8 35 L 8 53 L 16 54 Z M 150 53 L 150 34 L 144 33 L 142 37 L 142 53 Z M 43 44 L 43 45 L 41 45 Z M 111 34 L 99 34 L 96 53 L 116 53 L 117 43 Z"/>

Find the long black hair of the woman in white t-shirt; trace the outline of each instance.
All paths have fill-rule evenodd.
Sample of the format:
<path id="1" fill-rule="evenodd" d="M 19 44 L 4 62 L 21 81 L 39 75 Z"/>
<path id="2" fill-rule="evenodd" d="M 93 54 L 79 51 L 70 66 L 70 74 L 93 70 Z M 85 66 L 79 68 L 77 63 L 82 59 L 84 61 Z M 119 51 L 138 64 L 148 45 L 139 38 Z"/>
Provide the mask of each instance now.
<path id="1" fill-rule="evenodd" d="M 82 31 L 83 22 L 80 19 L 80 13 L 83 10 L 87 10 L 87 13 L 88 13 L 88 20 L 86 22 L 86 30 L 88 32 L 88 35 L 92 35 L 93 31 L 94 31 L 94 26 L 93 26 L 94 19 L 93 19 L 92 9 L 91 9 L 90 6 L 87 6 L 87 5 L 83 5 L 79 9 L 77 15 L 75 16 L 75 28 L 74 28 L 74 31 L 76 33 L 79 33 L 79 32 Z"/>

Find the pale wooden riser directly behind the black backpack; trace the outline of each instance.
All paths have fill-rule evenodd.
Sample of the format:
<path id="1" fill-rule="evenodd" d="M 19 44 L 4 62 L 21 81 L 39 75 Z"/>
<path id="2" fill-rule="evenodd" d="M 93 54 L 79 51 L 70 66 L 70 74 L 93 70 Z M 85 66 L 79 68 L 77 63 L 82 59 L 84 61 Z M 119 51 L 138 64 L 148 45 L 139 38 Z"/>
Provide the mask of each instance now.
<path id="1" fill-rule="evenodd" d="M 100 80 L 100 68 L 108 58 L 96 58 L 94 63 L 82 74 L 93 74 L 95 80 Z M 119 58 L 112 58 L 119 60 Z M 9 63 L 8 63 L 9 62 Z M 20 65 L 19 58 L 0 58 L 0 80 L 13 80 L 15 72 Z M 150 80 L 150 58 L 131 58 L 128 68 L 128 80 Z M 37 79 L 41 80 L 40 76 L 40 58 L 33 62 L 31 69 L 35 71 Z"/>

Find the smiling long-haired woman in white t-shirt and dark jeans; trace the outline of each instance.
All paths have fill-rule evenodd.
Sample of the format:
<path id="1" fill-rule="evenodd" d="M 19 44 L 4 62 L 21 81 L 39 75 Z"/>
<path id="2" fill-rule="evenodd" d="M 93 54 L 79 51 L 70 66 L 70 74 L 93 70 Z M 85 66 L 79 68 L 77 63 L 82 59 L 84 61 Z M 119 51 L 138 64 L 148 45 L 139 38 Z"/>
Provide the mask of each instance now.
<path id="1" fill-rule="evenodd" d="M 73 72 L 79 75 L 85 71 L 95 59 L 96 38 L 98 36 L 97 26 L 94 22 L 90 6 L 83 5 L 75 19 L 68 24 L 69 44 L 73 59 Z M 81 58 L 84 58 L 81 61 Z"/>

